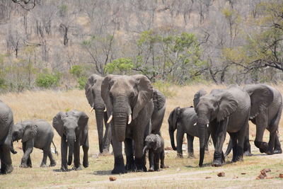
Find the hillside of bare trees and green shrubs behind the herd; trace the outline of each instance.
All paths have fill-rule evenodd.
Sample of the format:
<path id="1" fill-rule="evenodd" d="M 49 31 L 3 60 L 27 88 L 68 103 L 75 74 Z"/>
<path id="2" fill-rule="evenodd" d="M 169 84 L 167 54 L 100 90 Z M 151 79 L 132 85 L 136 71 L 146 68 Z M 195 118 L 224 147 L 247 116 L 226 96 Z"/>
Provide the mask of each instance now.
<path id="1" fill-rule="evenodd" d="M 279 0 L 0 0 L 0 91 L 83 88 L 93 73 L 276 83 L 282 40 Z"/>

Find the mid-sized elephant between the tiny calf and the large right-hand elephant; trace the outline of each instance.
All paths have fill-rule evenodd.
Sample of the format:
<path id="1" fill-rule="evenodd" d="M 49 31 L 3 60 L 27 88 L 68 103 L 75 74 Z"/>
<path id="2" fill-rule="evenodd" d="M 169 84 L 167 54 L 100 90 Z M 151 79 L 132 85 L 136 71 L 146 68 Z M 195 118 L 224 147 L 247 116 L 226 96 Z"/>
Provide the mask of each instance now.
<path id="1" fill-rule="evenodd" d="M 187 134 L 187 154 L 188 158 L 194 156 L 193 142 L 194 137 L 199 137 L 197 130 L 197 113 L 195 113 L 195 108 L 192 106 L 185 108 L 174 108 L 170 113 L 168 118 L 168 130 L 171 139 L 171 147 L 173 150 L 177 149 L 177 156 L 183 158 L 183 137 L 184 134 Z M 175 147 L 174 132 L 177 130 L 177 147 Z M 207 130 L 209 132 L 209 130 Z M 208 151 L 208 139 L 210 132 L 206 134 L 207 138 L 205 139 L 205 150 Z"/>

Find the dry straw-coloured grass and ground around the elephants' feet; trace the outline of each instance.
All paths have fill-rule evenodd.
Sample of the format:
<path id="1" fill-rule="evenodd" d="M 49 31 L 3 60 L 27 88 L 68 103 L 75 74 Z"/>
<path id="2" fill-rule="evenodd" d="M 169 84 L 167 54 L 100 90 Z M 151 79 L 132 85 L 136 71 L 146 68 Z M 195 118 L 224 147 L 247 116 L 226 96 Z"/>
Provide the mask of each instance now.
<path id="1" fill-rule="evenodd" d="M 210 91 L 212 88 L 224 88 L 225 86 L 171 86 L 174 96 L 167 98 L 166 115 L 163 121 L 162 134 L 166 142 L 166 147 L 171 146 L 168 135 L 168 115 L 176 106 L 184 107 L 192 105 L 192 99 L 196 91 L 204 88 Z M 283 86 L 275 86 L 283 92 Z M 231 164 L 231 156 L 226 159 L 226 165 L 220 168 L 211 166 L 213 147 L 209 147 L 209 155 L 204 159 L 204 167 L 198 167 L 198 139 L 195 138 L 196 159 L 187 159 L 187 152 L 184 151 L 184 159 L 176 159 L 175 151 L 166 152 L 166 164 L 170 168 L 154 173 L 127 173 L 115 176 L 117 181 L 110 182 L 110 171 L 113 167 L 112 156 L 97 156 L 98 140 L 96 123 L 93 113 L 89 113 L 84 91 L 26 91 L 24 93 L 7 93 L 0 96 L 0 99 L 7 103 L 13 110 L 14 121 L 30 118 L 42 118 L 52 122 L 54 115 L 59 110 L 66 111 L 73 108 L 83 110 L 90 117 L 89 119 L 89 139 L 90 166 L 82 171 L 59 172 L 61 166 L 60 156 L 56 156 L 57 166 L 50 168 L 40 168 L 42 152 L 34 149 L 31 154 L 33 168 L 19 168 L 21 162 L 21 142 L 15 144 L 18 154 L 13 155 L 14 171 L 8 175 L 0 176 L 0 188 L 282 188 L 283 179 L 276 178 L 279 173 L 283 173 L 282 154 L 267 156 L 260 154 L 251 142 L 254 156 L 244 157 L 243 162 Z M 280 122 L 280 133 L 283 132 L 283 122 Z M 250 139 L 255 138 L 255 127 L 250 124 Z M 60 139 L 56 131 L 54 143 L 60 149 Z M 267 141 L 265 133 L 265 141 Z M 229 138 L 229 137 L 228 137 Z M 283 139 L 283 137 L 280 137 Z M 224 147 L 226 148 L 226 147 Z M 48 160 L 49 163 L 49 160 Z M 147 163 L 148 166 L 148 163 Z M 69 167 L 71 168 L 71 167 Z M 262 168 L 270 168 L 267 173 L 270 179 L 256 180 Z M 225 177 L 217 177 L 216 174 L 224 171 Z M 241 174 L 246 173 L 246 174 Z M 208 177 L 208 178 L 206 178 Z"/>

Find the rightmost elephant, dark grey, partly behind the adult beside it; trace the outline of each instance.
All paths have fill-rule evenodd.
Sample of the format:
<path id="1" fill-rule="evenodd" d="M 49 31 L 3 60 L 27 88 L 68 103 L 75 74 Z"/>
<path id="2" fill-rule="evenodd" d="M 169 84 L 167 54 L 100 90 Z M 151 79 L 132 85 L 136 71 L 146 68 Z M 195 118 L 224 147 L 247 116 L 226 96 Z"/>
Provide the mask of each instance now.
<path id="1" fill-rule="evenodd" d="M 265 84 L 246 85 L 243 90 L 247 91 L 250 96 L 250 120 L 256 125 L 255 147 L 258 147 L 261 153 L 281 154 L 281 144 L 277 136 L 282 114 L 281 93 Z M 270 132 L 268 144 L 262 141 L 265 130 Z M 246 133 L 246 146 L 250 147 L 248 132 Z"/>

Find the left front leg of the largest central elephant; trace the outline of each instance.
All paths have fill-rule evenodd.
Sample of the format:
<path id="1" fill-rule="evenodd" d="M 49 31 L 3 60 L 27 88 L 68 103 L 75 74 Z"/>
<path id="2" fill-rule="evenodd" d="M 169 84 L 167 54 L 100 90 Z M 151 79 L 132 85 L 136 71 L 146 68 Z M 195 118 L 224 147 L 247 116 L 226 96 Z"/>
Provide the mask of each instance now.
<path id="1" fill-rule="evenodd" d="M 127 173 L 124 164 L 124 158 L 122 155 L 122 142 L 117 140 L 115 135 L 115 130 L 113 128 L 113 124 L 111 124 L 112 130 L 112 145 L 113 145 L 113 152 L 114 152 L 114 168 L 111 171 L 112 174 L 119 174 L 119 173 Z"/>

